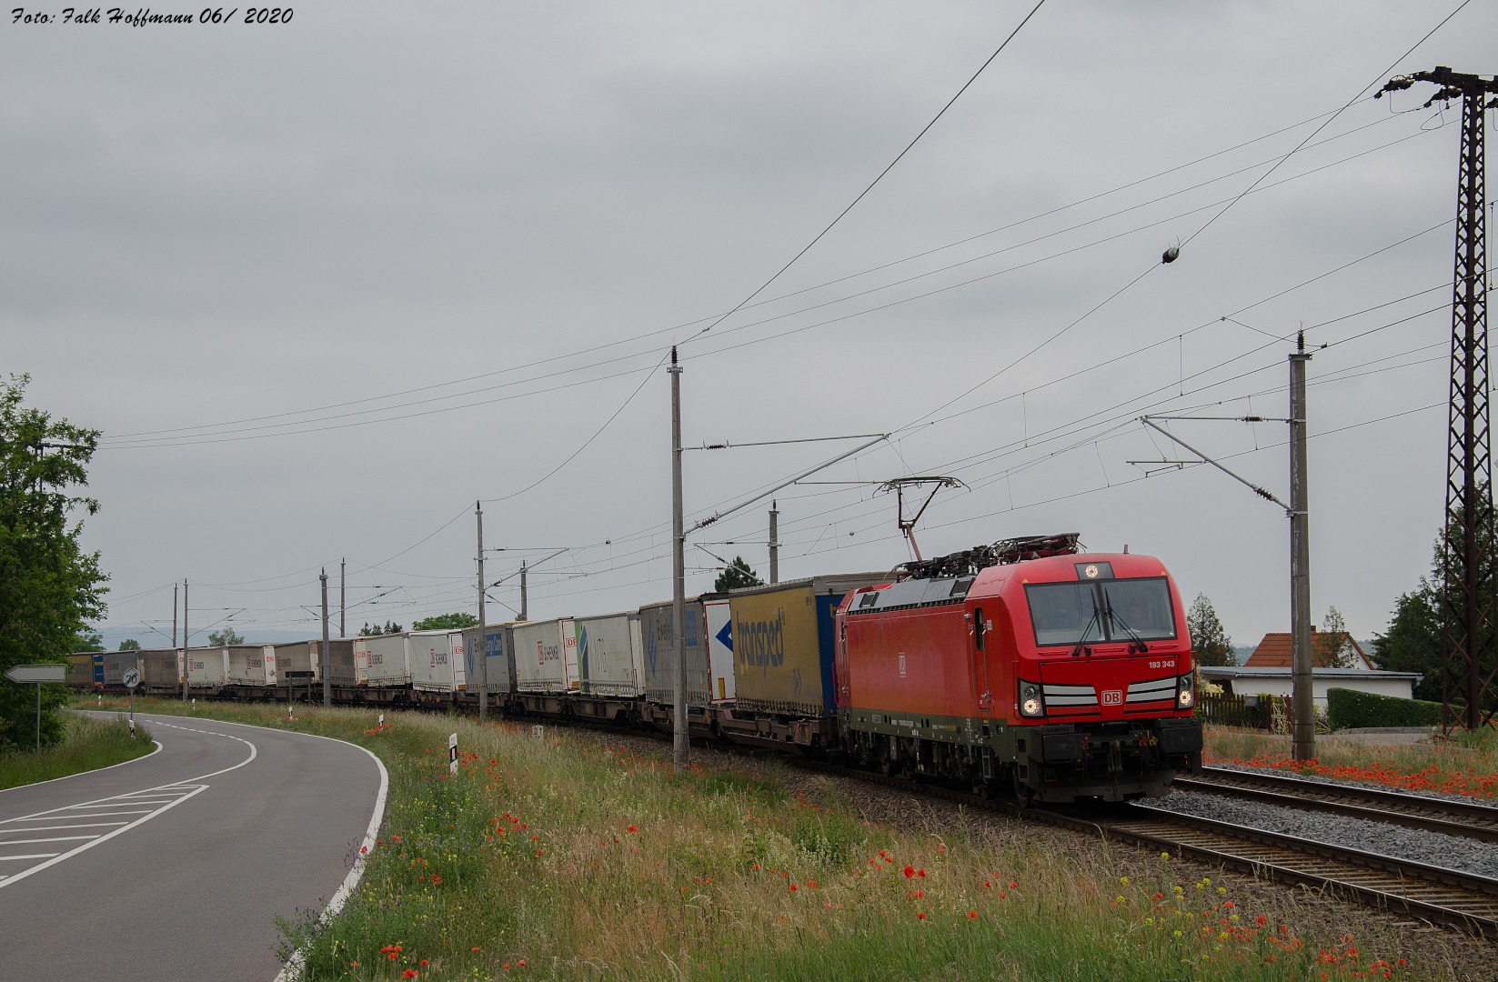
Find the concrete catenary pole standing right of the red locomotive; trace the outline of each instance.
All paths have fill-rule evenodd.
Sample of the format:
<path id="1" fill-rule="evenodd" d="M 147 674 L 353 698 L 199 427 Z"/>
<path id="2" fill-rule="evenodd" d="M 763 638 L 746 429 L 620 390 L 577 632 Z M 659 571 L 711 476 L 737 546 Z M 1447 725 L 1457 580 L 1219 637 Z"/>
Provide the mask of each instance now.
<path id="1" fill-rule="evenodd" d="M 1306 488 L 1305 334 L 1290 355 L 1290 726 L 1296 760 L 1315 757 L 1315 710 L 1311 698 L 1311 528 Z"/>

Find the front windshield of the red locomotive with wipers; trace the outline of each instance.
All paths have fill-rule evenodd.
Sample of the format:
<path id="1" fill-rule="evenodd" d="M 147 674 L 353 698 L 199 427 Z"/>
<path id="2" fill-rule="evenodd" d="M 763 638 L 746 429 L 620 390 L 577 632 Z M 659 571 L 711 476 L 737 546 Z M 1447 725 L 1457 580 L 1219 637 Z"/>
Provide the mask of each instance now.
<path id="1" fill-rule="evenodd" d="M 1176 636 L 1164 576 L 1098 582 L 1026 584 L 1037 647 Z"/>

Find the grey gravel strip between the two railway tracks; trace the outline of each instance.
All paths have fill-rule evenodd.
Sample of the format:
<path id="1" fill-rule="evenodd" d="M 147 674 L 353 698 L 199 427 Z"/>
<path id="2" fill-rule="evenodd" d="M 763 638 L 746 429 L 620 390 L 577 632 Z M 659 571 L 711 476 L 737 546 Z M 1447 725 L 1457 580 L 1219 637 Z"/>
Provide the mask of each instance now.
<path id="1" fill-rule="evenodd" d="M 1144 807 L 1498 879 L 1498 849 L 1474 838 L 1185 790 L 1171 792 Z"/>

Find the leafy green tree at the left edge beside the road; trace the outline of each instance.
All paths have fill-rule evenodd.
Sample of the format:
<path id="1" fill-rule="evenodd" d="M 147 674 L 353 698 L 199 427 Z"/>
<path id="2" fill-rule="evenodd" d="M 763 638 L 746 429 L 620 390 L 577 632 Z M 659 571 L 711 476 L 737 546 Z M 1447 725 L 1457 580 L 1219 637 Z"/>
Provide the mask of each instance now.
<path id="1" fill-rule="evenodd" d="M 70 494 L 88 484 L 99 431 L 22 406 L 28 382 L 0 382 L 0 671 L 64 662 L 88 642 L 103 650 L 88 623 L 105 615 L 109 578 L 79 543 L 82 515 L 99 503 Z M 42 742 L 63 738 L 57 710 L 66 701 L 64 686 L 42 687 Z M 0 750 L 33 739 L 36 693 L 0 686 Z"/>

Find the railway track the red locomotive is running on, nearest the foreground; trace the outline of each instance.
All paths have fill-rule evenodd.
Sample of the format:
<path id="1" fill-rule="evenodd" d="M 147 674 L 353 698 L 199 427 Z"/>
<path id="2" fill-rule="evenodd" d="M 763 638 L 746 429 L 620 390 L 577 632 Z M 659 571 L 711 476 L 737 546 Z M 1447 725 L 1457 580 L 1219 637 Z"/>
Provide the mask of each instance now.
<path id="1" fill-rule="evenodd" d="M 1329 889 L 1338 897 L 1377 910 L 1402 913 L 1498 940 L 1498 880 L 1459 870 L 1137 805 L 1113 808 L 1107 816 L 1086 819 L 1047 808 L 1022 808 L 1013 802 L 980 798 L 950 787 L 914 784 L 813 760 L 794 760 L 794 763 L 1153 852 L 1168 852 L 1258 879 Z"/>

